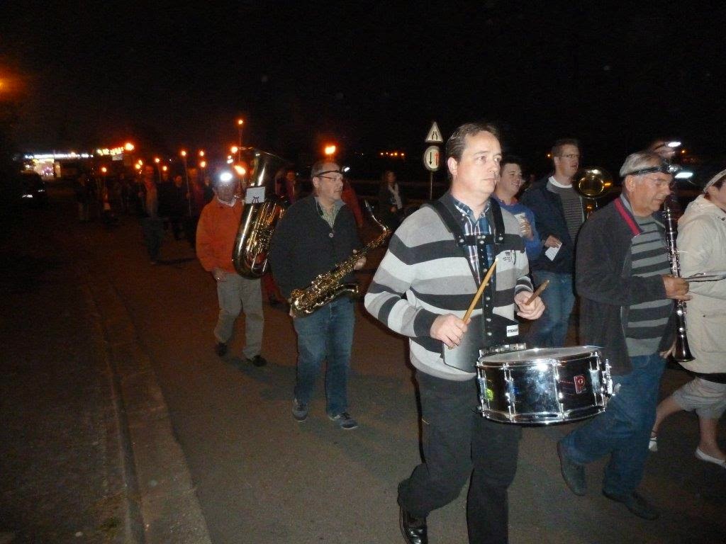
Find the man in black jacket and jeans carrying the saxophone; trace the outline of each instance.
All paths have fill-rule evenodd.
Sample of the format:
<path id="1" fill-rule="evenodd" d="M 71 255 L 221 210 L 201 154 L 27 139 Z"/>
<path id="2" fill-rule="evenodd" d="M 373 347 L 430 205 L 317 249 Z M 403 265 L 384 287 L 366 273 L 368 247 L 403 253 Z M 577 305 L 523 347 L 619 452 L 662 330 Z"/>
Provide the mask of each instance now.
<path id="1" fill-rule="evenodd" d="M 295 202 L 282 216 L 272 236 L 269 260 L 282 294 L 304 289 L 321 273 L 346 260 L 361 247 L 355 218 L 340 199 L 343 173 L 335 162 L 313 165 L 314 194 Z M 361 258 L 355 270 L 363 267 Z M 352 280 L 352 273 L 345 280 Z M 290 315 L 293 315 L 291 312 Z M 305 421 L 315 382 L 323 361 L 326 411 L 341 429 L 358 424 L 348 413 L 348 368 L 355 324 L 353 301 L 338 297 L 310 315 L 293 316 L 298 334 L 298 371 L 293 398 L 293 418 Z"/>

